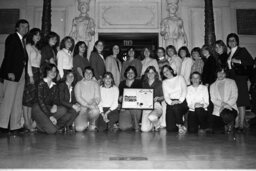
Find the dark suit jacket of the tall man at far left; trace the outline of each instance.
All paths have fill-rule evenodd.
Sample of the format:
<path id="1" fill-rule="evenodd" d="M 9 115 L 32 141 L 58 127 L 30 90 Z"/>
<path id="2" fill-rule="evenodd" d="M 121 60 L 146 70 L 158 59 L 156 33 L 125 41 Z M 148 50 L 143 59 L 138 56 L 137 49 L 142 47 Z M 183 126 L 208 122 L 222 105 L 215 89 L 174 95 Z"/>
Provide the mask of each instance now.
<path id="1" fill-rule="evenodd" d="M 22 45 L 18 33 L 10 34 L 5 40 L 5 52 L 0 68 L 0 77 L 5 80 L 10 80 L 8 78 L 8 73 L 13 73 L 15 75 L 14 81 L 19 82 L 24 67 L 25 70 L 27 70 L 27 62 L 28 55 L 25 47 Z"/>

